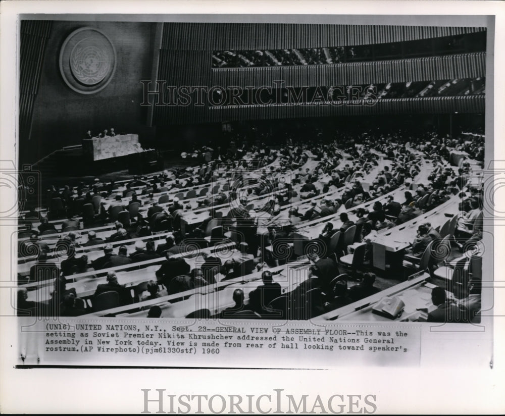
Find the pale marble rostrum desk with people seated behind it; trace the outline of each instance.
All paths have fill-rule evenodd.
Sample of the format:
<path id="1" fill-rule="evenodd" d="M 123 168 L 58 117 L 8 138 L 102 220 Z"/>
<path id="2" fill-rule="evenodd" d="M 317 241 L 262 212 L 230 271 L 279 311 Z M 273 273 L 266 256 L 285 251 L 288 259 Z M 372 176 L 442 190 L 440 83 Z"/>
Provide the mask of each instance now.
<path id="1" fill-rule="evenodd" d="M 137 144 L 137 134 L 93 137 L 82 140 L 82 150 L 87 158 L 92 158 L 93 161 L 101 161 L 135 153 L 137 151 Z"/>

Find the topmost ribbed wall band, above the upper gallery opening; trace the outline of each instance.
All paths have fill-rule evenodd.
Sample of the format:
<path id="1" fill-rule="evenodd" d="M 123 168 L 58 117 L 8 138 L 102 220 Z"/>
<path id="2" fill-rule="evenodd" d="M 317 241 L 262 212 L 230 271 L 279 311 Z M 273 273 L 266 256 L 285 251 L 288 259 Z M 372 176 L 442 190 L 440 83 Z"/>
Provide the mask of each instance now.
<path id="1" fill-rule="evenodd" d="M 289 49 L 396 42 L 483 28 L 268 23 L 166 23 L 162 49 Z"/>

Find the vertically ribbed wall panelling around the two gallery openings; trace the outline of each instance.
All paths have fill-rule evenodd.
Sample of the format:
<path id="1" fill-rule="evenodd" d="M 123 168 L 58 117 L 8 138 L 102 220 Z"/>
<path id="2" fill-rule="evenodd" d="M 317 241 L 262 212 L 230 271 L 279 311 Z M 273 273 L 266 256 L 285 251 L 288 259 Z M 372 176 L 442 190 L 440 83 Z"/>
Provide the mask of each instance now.
<path id="1" fill-rule="evenodd" d="M 333 86 L 379 82 L 430 81 L 485 76 L 485 51 L 440 57 L 332 65 L 213 69 L 213 50 L 348 46 L 442 37 L 481 31 L 469 27 L 311 24 L 165 23 L 158 80 L 166 86 Z M 153 86 L 155 89 L 156 86 Z M 211 107 L 156 106 L 153 124 L 169 126 L 230 120 L 356 114 L 483 112 L 483 97 L 382 100 L 365 106 Z"/>

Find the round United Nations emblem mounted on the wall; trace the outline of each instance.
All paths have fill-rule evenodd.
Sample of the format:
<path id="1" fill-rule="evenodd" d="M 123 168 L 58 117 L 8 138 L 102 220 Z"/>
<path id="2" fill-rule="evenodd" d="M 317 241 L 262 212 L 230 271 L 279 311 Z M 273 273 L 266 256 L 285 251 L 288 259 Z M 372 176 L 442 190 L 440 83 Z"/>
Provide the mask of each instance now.
<path id="1" fill-rule="evenodd" d="M 81 94 L 104 89 L 114 76 L 116 61 L 116 49 L 111 40 L 91 27 L 72 32 L 60 51 L 63 80 Z"/>

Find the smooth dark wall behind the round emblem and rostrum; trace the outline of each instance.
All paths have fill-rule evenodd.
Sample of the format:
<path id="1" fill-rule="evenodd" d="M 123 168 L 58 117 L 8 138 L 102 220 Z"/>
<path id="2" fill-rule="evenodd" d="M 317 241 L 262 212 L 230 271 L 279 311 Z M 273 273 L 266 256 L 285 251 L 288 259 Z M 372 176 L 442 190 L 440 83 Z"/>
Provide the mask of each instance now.
<path id="1" fill-rule="evenodd" d="M 92 94 L 69 88 L 59 67 L 65 39 L 81 27 L 102 31 L 116 49 L 111 82 Z M 140 106 L 140 81 L 151 77 L 154 36 L 153 23 L 54 21 L 41 62 L 30 133 L 20 146 L 20 161 L 33 163 L 53 150 L 80 144 L 87 130 L 97 134 L 114 127 L 117 133 L 152 134 L 145 126 L 147 110 Z"/>

